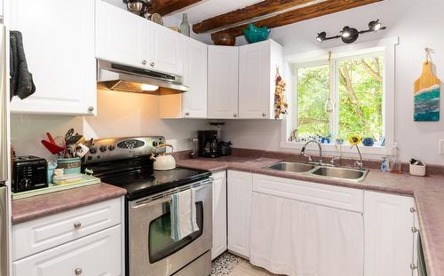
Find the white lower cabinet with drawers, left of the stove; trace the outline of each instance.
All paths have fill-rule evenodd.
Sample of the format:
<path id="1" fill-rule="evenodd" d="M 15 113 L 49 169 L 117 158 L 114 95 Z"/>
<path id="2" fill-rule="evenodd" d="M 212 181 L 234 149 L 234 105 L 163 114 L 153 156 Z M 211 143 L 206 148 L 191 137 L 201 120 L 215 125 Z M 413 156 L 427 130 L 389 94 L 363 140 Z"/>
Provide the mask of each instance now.
<path id="1" fill-rule="evenodd" d="M 123 198 L 12 225 L 13 276 L 123 275 Z"/>

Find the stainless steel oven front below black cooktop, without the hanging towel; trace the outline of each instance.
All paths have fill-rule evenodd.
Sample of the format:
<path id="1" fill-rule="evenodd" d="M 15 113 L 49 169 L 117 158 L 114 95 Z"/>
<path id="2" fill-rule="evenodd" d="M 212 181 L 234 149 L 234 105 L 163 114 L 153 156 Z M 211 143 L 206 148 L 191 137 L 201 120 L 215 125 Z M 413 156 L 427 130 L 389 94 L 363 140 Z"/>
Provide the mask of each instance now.
<path id="1" fill-rule="evenodd" d="M 195 191 L 199 230 L 179 241 L 170 238 L 172 194 Z M 131 276 L 194 275 L 210 273 L 212 195 L 209 178 L 128 201 L 128 256 Z"/>

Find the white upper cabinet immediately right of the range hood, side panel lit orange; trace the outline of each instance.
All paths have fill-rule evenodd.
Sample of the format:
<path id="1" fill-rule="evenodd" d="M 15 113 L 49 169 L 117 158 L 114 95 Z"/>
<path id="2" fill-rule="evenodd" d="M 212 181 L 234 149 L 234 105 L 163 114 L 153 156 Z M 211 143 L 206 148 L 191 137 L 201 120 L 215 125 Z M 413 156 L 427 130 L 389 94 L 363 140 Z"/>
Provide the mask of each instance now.
<path id="1" fill-rule="evenodd" d="M 183 77 L 189 91 L 159 97 L 159 117 L 207 117 L 207 45 L 182 35 L 184 39 Z"/>

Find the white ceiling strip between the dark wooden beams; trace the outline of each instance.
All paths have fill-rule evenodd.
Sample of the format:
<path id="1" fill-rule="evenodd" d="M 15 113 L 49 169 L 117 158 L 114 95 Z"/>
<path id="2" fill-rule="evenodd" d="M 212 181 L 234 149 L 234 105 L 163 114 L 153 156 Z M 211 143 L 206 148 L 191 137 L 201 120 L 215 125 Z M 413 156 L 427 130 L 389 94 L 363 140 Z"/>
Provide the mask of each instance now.
<path id="1" fill-rule="evenodd" d="M 182 13 L 186 12 L 188 14 L 188 22 L 194 24 L 261 1 L 263 0 L 203 0 L 171 15 L 181 20 Z"/>

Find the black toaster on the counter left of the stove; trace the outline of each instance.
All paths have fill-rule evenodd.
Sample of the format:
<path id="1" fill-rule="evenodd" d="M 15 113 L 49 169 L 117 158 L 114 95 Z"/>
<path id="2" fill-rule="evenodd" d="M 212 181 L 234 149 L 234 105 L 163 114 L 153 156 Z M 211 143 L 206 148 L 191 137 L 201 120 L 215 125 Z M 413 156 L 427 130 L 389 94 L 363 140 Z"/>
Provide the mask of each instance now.
<path id="1" fill-rule="evenodd" d="M 12 160 L 12 192 L 20 193 L 48 186 L 48 162 L 44 158 L 26 155 Z"/>

